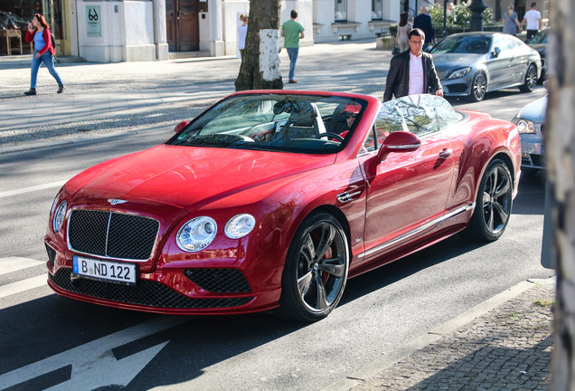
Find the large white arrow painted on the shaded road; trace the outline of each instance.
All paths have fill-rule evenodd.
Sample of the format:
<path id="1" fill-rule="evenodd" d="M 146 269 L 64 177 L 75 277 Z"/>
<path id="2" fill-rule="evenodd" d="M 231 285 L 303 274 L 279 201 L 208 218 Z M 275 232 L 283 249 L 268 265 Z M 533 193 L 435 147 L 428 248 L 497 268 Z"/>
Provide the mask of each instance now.
<path id="1" fill-rule="evenodd" d="M 69 365 L 72 366 L 71 379 L 49 388 L 50 390 L 76 391 L 111 385 L 127 386 L 169 341 L 120 360 L 114 357 L 112 349 L 165 329 L 171 329 L 188 320 L 187 317 L 161 316 L 120 330 L 51 358 L 44 358 L 26 367 L 14 369 L 0 376 L 0 389 L 17 386 Z"/>

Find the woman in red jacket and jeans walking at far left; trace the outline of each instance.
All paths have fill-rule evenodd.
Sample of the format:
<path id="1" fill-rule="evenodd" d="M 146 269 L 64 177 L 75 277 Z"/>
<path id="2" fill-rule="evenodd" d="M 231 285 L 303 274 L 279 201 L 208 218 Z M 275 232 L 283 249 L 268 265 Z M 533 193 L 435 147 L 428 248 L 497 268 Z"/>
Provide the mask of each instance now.
<path id="1" fill-rule="evenodd" d="M 42 14 L 34 14 L 32 22 L 28 24 L 28 31 L 26 32 L 26 42 L 34 43 L 34 54 L 32 57 L 32 78 L 30 81 L 30 90 L 25 91 L 24 95 L 36 95 L 36 79 L 38 77 L 38 69 L 42 62 L 48 68 L 48 72 L 58 82 L 58 93 L 64 91 L 64 83 L 61 82 L 60 75 L 54 68 L 54 48 L 52 46 L 52 34 L 50 33 L 50 26 L 46 23 L 46 19 Z"/>

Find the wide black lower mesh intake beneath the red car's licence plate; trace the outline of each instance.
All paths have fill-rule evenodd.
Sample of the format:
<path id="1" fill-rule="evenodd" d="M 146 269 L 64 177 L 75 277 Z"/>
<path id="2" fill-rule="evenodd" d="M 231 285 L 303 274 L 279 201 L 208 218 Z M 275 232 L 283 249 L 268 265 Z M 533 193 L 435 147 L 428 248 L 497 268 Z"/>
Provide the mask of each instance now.
<path id="1" fill-rule="evenodd" d="M 71 269 L 68 268 L 62 268 L 55 275 L 49 274 L 49 276 L 50 280 L 64 291 L 78 293 L 91 298 L 163 309 L 239 307 L 253 299 L 252 297 L 190 299 L 161 282 L 149 280 L 137 281 L 135 286 L 88 279 L 75 279 L 72 282 Z"/>

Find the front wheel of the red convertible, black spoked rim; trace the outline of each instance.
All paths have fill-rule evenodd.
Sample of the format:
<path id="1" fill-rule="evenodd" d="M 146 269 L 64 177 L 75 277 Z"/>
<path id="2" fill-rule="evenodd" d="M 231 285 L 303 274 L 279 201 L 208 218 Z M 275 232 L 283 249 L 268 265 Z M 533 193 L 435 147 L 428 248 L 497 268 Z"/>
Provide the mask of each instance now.
<path id="1" fill-rule="evenodd" d="M 349 261 L 342 224 L 325 213 L 306 217 L 287 251 L 279 300 L 282 315 L 324 319 L 344 294 Z"/>

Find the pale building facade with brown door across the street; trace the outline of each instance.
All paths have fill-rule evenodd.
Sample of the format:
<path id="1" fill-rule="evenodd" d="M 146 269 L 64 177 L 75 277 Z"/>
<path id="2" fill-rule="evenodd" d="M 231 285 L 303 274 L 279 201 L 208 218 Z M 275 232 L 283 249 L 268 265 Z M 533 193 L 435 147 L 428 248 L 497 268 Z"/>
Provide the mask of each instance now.
<path id="1" fill-rule="evenodd" d="M 44 14 L 58 55 L 88 62 L 166 60 L 178 55 L 239 56 L 240 14 L 250 0 L 1 0 L 0 11 L 23 18 L 20 33 L 4 37 L 4 55 L 29 54 L 27 21 Z M 302 46 L 375 38 L 389 33 L 402 11 L 413 16 L 428 0 L 281 0 L 281 22 L 292 9 L 306 29 Z M 14 29 L 17 30 L 17 29 Z M 0 36 L 0 44 L 2 44 Z M 3 55 L 0 46 L 0 55 Z"/>

